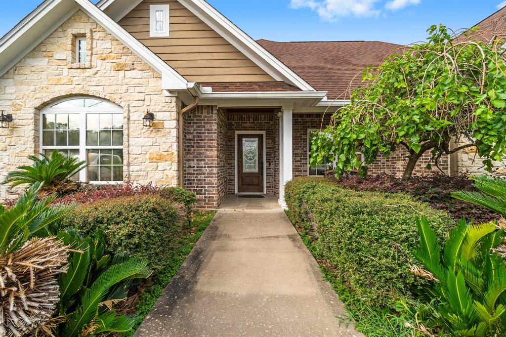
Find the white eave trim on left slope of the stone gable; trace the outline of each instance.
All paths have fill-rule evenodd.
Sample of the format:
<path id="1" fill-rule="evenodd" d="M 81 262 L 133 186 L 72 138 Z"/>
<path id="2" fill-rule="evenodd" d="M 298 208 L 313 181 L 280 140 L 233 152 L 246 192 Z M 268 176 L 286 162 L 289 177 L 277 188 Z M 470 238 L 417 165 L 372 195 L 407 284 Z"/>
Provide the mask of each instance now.
<path id="1" fill-rule="evenodd" d="M 46 0 L 21 20 L 0 39 L 0 76 L 51 35 L 77 9 L 73 1 Z"/>

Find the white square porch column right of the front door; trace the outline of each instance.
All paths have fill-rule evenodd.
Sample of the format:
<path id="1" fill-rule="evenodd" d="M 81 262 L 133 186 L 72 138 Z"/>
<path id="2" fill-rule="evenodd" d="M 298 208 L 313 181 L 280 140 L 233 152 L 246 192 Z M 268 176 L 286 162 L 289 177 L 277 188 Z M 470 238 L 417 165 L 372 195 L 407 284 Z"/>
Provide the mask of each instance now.
<path id="1" fill-rule="evenodd" d="M 284 185 L 292 179 L 293 106 L 283 106 L 279 118 L 279 204 L 286 209 Z"/>

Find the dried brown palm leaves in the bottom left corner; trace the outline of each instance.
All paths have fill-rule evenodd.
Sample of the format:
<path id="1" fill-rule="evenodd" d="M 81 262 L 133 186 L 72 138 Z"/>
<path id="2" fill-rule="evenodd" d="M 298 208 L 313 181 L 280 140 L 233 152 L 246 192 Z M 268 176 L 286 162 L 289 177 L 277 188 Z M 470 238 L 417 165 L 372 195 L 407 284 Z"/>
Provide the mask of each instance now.
<path id="1" fill-rule="evenodd" d="M 66 272 L 69 247 L 56 237 L 32 238 L 0 257 L 0 335 L 51 334 L 60 301 L 58 274 Z"/>

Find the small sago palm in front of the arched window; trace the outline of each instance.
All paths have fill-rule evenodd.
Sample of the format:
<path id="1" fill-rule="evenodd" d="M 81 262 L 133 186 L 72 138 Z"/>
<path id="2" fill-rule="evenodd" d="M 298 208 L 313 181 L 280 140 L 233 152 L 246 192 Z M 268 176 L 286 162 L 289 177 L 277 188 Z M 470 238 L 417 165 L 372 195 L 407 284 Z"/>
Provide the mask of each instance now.
<path id="1" fill-rule="evenodd" d="M 2 184 L 14 187 L 39 182 L 43 184 L 41 192 L 44 194 L 62 193 L 74 188 L 75 184 L 70 178 L 87 166 L 85 161 L 67 157 L 58 150 L 54 150 L 50 157 L 41 154 L 40 157 L 32 155 L 28 159 L 33 161 L 31 166 L 18 166 L 19 171 L 9 172 Z"/>

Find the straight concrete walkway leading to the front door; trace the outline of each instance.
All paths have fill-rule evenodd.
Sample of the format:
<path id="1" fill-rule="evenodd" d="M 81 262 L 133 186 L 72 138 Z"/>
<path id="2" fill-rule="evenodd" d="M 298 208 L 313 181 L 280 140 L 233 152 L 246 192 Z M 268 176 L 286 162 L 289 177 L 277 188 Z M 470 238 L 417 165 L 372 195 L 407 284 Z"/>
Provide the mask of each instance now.
<path id="1" fill-rule="evenodd" d="M 274 197 L 228 197 L 135 336 L 362 336 Z"/>

